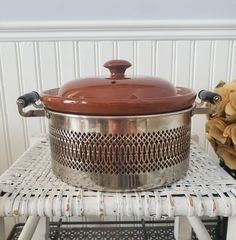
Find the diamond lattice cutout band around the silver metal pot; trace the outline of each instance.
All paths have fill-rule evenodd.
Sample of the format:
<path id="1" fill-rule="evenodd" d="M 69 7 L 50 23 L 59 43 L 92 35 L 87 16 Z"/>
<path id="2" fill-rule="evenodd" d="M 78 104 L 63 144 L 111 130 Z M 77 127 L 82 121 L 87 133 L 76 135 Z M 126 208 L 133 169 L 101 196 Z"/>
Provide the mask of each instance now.
<path id="1" fill-rule="evenodd" d="M 80 133 L 50 127 L 52 157 L 89 173 L 141 174 L 188 159 L 190 126 L 138 134 Z"/>

